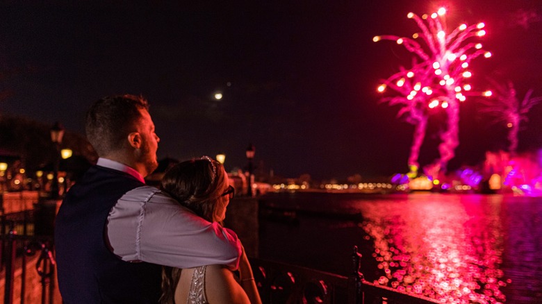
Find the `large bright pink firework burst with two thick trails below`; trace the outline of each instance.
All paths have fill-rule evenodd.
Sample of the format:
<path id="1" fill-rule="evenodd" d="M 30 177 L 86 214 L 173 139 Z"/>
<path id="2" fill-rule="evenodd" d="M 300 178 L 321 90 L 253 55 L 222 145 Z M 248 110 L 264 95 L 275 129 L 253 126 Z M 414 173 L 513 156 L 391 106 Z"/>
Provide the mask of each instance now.
<path id="1" fill-rule="evenodd" d="M 409 12 L 407 17 L 416 22 L 420 33 L 414 33 L 412 37 L 380 35 L 373 38 L 374 42 L 393 40 L 411 53 L 411 67 L 400 67 L 399 72 L 388 77 L 377 89 L 382 93 L 391 89 L 395 96 L 384 97 L 382 101 L 401 105 L 397 116 L 416 126 L 409 166 L 418 167 L 427 117 L 437 108 L 446 112 L 447 126 L 440 133 L 441 144 L 438 146 L 440 159 L 426 169 L 426 174 L 435 178 L 440 171 L 445 171 L 459 144 L 459 103 L 466 101 L 467 92 L 472 90 L 468 82 L 473 76 L 468 70 L 470 62 L 479 56 L 491 57 L 491 53 L 475 41 L 486 35 L 484 23 L 461 24 L 450 32 L 442 22 L 444 15 L 444 8 L 422 17 Z"/>

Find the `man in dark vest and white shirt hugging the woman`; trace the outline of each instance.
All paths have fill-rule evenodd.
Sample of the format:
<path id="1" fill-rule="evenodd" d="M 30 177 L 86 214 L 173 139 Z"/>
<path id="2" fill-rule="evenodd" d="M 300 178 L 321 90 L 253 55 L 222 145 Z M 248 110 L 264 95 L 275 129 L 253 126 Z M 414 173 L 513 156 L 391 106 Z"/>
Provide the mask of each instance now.
<path id="1" fill-rule="evenodd" d="M 160 142 L 145 99 L 100 99 L 85 128 L 99 160 L 69 190 L 56 217 L 64 303 L 158 303 L 159 265 L 238 267 L 235 233 L 145 185 L 158 166 Z"/>

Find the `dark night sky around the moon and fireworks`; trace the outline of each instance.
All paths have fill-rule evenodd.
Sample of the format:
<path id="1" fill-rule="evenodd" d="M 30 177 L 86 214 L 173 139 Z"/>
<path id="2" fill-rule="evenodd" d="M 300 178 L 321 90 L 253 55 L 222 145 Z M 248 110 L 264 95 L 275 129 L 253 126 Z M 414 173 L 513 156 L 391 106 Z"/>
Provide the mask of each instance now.
<path id="1" fill-rule="evenodd" d="M 252 142 L 258 167 L 280 176 L 407 171 L 413 126 L 396 119 L 397 108 L 379 103 L 375 88 L 410 60 L 402 47 L 372 37 L 410 36 L 417 27 L 407 13 L 434 12 L 442 2 L 18 2 L 0 6 L 1 114 L 51 126 L 60 121 L 84 134 L 90 103 L 142 94 L 161 137 L 159 158 L 223 152 L 233 169 L 245 166 Z M 520 97 L 529 89 L 542 96 L 542 1 L 445 6 L 450 28 L 486 23 L 481 42 L 493 58 L 473 62 L 480 90 L 491 77 L 512 81 Z M 217 91 L 224 94 L 220 101 L 213 99 Z M 437 156 L 434 120 L 422 164 Z M 507 147 L 504 128 L 488 121 L 475 99 L 461 105 L 450 169 Z M 520 151 L 542 147 L 542 104 L 525 126 Z"/>

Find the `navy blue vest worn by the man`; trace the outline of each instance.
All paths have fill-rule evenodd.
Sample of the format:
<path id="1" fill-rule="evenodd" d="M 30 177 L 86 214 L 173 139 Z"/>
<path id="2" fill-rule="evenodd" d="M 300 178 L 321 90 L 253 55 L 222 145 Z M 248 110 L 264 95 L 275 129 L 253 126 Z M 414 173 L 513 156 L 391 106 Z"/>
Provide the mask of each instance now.
<path id="1" fill-rule="evenodd" d="M 94 166 L 69 189 L 55 223 L 64 303 L 158 303 L 161 267 L 124 262 L 104 239 L 110 209 L 123 194 L 142 185 L 129 174 Z"/>

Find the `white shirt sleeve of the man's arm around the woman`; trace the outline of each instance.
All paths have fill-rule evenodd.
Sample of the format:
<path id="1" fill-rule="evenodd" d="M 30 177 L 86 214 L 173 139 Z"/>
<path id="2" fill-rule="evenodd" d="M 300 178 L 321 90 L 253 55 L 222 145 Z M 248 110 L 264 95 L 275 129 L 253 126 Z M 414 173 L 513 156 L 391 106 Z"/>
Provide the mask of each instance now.
<path id="1" fill-rule="evenodd" d="M 106 230 L 111 251 L 124 261 L 238 267 L 241 247 L 232 230 L 198 217 L 155 187 L 124 194 L 110 210 Z"/>

